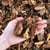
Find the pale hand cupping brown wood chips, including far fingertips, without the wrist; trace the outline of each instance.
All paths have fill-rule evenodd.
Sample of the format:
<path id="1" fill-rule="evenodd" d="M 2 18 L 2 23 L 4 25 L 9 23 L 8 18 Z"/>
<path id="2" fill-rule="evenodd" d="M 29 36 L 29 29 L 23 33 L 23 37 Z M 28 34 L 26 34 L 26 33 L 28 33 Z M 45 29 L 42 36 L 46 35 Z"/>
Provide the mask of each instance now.
<path id="1" fill-rule="evenodd" d="M 20 42 L 22 42 L 22 41 L 24 41 L 24 40 L 26 40 L 26 39 L 24 39 L 24 38 L 21 38 L 21 37 L 16 37 L 15 35 L 14 35 L 14 29 L 15 29 L 15 26 L 16 26 L 16 24 L 18 23 L 18 21 L 22 21 L 23 20 L 23 18 L 22 17 L 19 17 L 19 18 L 16 18 L 16 19 L 14 19 L 14 20 L 12 20 L 12 21 L 10 21 L 9 23 L 8 23 L 8 25 L 7 25 L 7 27 L 5 28 L 5 30 L 4 30 L 4 32 L 3 32 L 3 34 L 1 35 L 1 38 L 0 38 L 0 40 L 2 41 L 2 40 L 4 40 L 4 39 L 6 39 L 6 41 L 8 41 L 8 44 L 9 44 L 9 46 L 11 46 L 11 45 L 13 45 L 13 44 L 18 44 L 18 43 L 20 43 Z M 43 21 L 43 20 L 39 20 L 38 22 L 37 22 L 37 24 L 42 24 L 42 25 L 38 25 L 39 27 L 38 28 L 40 28 L 40 30 L 38 30 L 37 32 L 36 32 L 36 34 L 39 34 L 39 33 L 41 33 L 42 31 L 43 31 L 43 26 L 44 26 L 44 24 L 46 23 L 46 22 L 41 22 L 41 21 Z M 45 24 L 46 25 L 46 24 Z M 34 27 L 34 26 L 33 26 Z M 41 28 L 42 27 L 42 28 Z M 5 41 L 4 41 L 5 42 Z M 3 44 L 3 43 L 2 43 Z M 4 45 L 5 46 L 5 45 Z M 1 48 L 1 47 L 0 47 Z M 6 48 L 7 48 L 7 46 L 6 46 Z"/>

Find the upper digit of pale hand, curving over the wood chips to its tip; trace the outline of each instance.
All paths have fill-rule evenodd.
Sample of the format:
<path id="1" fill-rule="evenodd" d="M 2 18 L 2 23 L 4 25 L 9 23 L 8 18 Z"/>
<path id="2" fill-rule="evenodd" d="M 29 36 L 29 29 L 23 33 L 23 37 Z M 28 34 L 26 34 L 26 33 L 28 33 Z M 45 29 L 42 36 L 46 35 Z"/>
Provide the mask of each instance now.
<path id="1" fill-rule="evenodd" d="M 14 19 L 14 20 L 12 20 L 12 21 L 10 21 L 9 23 L 8 23 L 8 25 L 6 26 L 6 28 L 4 29 L 4 34 L 6 34 L 6 35 L 8 35 L 8 34 L 13 34 L 13 32 L 14 32 L 14 29 L 15 29 L 15 26 L 16 26 L 16 24 L 17 24 L 17 22 L 18 21 L 21 21 L 21 20 L 23 20 L 23 18 L 22 17 L 18 17 L 18 18 L 16 18 L 16 19 Z"/>

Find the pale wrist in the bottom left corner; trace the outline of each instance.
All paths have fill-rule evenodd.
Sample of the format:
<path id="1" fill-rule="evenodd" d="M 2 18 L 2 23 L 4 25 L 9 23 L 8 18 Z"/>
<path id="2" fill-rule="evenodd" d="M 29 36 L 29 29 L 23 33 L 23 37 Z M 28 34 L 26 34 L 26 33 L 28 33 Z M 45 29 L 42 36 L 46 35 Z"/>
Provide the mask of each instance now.
<path id="1" fill-rule="evenodd" d="M 10 47 L 8 40 L 4 37 L 1 37 L 0 38 L 0 50 L 6 50 L 8 47 Z"/>

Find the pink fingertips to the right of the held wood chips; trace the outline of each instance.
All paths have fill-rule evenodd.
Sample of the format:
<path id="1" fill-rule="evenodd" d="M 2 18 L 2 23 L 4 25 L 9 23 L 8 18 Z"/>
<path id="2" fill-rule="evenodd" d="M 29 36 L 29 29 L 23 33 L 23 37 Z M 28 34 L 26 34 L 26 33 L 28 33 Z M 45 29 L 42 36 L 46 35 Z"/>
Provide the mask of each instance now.
<path id="1" fill-rule="evenodd" d="M 37 26 L 37 31 L 35 31 L 35 35 L 41 33 L 44 31 L 44 28 L 47 27 L 47 20 L 45 19 L 38 19 L 38 22 L 36 22 Z"/>

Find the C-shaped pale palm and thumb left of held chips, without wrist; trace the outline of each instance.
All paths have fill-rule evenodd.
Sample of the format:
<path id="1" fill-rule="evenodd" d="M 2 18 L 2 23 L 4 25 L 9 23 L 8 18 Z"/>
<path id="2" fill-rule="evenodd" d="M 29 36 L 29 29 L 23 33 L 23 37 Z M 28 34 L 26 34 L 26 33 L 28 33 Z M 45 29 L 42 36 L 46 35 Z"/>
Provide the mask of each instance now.
<path id="1" fill-rule="evenodd" d="M 14 35 L 14 29 L 16 24 L 18 23 L 18 21 L 22 20 L 23 18 L 19 17 L 10 21 L 2 34 L 2 37 L 5 37 L 7 41 L 10 43 L 10 45 L 17 44 L 25 40 L 24 38 L 16 37 Z"/>

